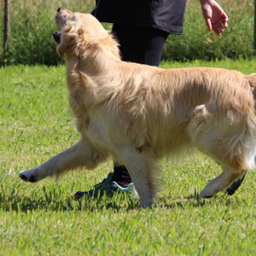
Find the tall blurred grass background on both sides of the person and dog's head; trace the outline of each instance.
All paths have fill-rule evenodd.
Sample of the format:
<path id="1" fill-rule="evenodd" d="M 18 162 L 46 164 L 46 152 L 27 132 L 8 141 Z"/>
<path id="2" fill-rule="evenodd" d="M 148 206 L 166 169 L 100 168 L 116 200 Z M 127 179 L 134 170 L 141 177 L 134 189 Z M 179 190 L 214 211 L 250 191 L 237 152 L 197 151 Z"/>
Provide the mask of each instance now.
<path id="1" fill-rule="evenodd" d="M 10 64 L 58 65 L 51 36 L 55 32 L 58 7 L 90 13 L 95 0 L 9 0 L 9 41 L 4 38 L 4 6 L 0 0 L 0 66 Z M 227 15 L 229 28 L 221 37 L 207 31 L 198 0 L 188 0 L 183 35 L 170 35 L 163 54 L 165 61 L 212 61 L 253 57 L 253 0 L 218 0 Z M 103 24 L 111 29 L 111 24 Z"/>

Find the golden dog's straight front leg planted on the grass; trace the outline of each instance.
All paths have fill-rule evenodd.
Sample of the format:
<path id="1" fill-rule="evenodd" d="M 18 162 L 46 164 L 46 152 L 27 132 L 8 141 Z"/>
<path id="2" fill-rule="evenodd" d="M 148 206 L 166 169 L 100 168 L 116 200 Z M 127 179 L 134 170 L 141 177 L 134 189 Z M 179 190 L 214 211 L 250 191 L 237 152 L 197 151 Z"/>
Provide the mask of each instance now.
<path id="1" fill-rule="evenodd" d="M 127 167 L 140 197 L 141 207 L 151 207 L 160 185 L 160 170 L 151 153 L 137 153 L 126 147 L 119 158 Z"/>

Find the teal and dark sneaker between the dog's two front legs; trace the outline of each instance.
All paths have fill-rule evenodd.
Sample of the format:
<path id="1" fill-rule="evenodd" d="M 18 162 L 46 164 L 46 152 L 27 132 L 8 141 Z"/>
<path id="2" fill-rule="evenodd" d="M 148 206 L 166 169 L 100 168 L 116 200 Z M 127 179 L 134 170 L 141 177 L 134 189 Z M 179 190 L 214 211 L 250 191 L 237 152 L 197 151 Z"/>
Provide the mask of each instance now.
<path id="1" fill-rule="evenodd" d="M 88 195 L 90 197 L 102 197 L 104 194 L 107 196 L 112 196 L 117 191 L 128 192 L 132 189 L 134 191 L 133 183 L 129 183 L 128 185 L 122 185 L 115 181 L 112 181 L 113 172 L 108 173 L 108 177 L 104 178 L 101 183 L 98 183 L 94 186 L 93 189 L 89 191 L 78 191 L 74 196 L 78 200 L 84 195 Z"/>

